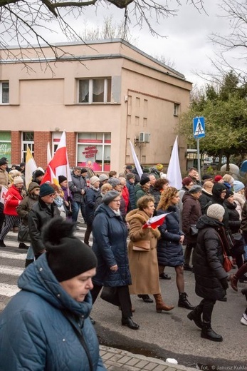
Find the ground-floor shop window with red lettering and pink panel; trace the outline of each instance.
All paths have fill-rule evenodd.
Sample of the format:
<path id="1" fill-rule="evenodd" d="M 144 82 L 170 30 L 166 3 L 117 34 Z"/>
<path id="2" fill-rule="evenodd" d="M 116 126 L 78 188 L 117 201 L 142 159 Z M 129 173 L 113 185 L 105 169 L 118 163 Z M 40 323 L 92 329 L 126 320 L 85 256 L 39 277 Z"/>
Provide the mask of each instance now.
<path id="1" fill-rule="evenodd" d="M 110 133 L 79 133 L 77 165 L 110 171 L 110 146 Z"/>

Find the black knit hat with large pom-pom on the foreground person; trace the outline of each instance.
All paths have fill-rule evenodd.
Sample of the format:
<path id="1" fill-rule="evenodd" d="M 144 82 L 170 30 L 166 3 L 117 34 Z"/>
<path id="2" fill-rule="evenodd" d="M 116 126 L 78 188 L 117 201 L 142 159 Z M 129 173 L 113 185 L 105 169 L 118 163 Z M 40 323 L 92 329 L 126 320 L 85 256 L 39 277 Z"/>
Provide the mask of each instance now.
<path id="1" fill-rule="evenodd" d="M 75 224 L 60 217 L 53 218 L 43 229 L 48 265 L 58 282 L 97 267 L 95 253 L 74 232 Z"/>

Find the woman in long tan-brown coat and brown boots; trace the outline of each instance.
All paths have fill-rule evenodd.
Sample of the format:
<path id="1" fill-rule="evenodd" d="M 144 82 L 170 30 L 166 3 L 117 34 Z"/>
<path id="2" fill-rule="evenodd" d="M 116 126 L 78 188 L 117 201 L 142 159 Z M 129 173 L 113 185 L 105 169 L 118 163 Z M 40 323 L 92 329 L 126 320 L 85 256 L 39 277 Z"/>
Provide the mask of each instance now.
<path id="1" fill-rule="evenodd" d="M 130 294 L 139 295 L 143 300 L 145 297 L 149 298 L 148 294 L 152 294 L 157 312 L 172 310 L 174 305 L 165 304 L 160 293 L 156 251 L 159 230 L 151 227 L 142 228 L 154 213 L 154 198 L 149 195 L 142 196 L 137 201 L 137 207 L 126 215 L 126 221 L 130 225 L 130 243 L 128 245 L 132 277 Z M 149 302 L 151 301 L 149 300 Z"/>

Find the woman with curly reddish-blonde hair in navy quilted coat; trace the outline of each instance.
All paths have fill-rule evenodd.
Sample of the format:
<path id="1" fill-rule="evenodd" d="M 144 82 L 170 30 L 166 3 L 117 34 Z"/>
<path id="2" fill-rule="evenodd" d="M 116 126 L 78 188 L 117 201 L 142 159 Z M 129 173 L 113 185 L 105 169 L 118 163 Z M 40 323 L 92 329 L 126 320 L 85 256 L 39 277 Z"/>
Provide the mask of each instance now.
<path id="1" fill-rule="evenodd" d="M 159 227 L 161 238 L 157 243 L 157 256 L 159 263 L 159 272 L 164 267 L 174 267 L 176 271 L 176 283 L 179 291 L 179 307 L 194 309 L 194 306 L 187 300 L 187 294 L 184 292 L 184 255 L 182 243 L 184 233 L 179 230 L 179 192 L 174 187 L 169 187 L 162 192 L 157 206 L 157 215 L 168 213 L 163 224 Z"/>

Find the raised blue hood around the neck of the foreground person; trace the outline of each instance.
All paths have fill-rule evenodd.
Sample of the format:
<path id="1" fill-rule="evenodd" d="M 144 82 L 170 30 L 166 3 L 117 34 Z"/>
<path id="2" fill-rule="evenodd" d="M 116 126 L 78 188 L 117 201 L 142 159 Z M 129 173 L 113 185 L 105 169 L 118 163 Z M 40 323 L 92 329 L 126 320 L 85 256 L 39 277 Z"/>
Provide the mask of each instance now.
<path id="1" fill-rule="evenodd" d="M 21 290 L 34 293 L 59 310 L 69 310 L 75 315 L 88 317 L 92 309 L 92 297 L 86 295 L 83 302 L 77 302 L 60 285 L 48 266 L 46 253 L 28 265 L 18 280 Z"/>

